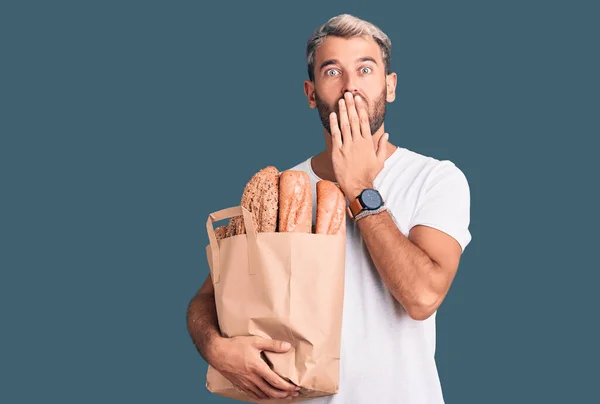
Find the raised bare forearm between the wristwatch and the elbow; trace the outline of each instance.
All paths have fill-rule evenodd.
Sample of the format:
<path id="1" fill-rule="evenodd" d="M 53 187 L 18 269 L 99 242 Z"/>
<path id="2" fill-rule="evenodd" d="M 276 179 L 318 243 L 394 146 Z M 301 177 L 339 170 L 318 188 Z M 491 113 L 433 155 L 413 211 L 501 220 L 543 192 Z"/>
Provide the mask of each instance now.
<path id="1" fill-rule="evenodd" d="M 412 318 L 429 317 L 437 307 L 442 281 L 435 262 L 402 234 L 387 211 L 357 223 L 388 290 Z"/>

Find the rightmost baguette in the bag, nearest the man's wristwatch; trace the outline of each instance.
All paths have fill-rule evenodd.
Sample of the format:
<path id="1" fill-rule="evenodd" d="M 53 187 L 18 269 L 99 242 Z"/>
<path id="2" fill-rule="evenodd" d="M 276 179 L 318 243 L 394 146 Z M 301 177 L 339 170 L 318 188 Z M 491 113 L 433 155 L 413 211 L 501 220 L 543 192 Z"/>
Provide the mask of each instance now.
<path id="1" fill-rule="evenodd" d="M 317 182 L 316 234 L 346 233 L 346 198 L 335 183 Z"/>

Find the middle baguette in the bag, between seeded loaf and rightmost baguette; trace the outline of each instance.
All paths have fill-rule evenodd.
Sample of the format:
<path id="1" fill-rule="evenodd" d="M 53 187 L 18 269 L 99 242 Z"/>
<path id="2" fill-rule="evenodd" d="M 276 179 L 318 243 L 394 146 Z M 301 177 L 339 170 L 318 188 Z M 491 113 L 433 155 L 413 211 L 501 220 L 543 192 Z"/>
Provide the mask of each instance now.
<path id="1" fill-rule="evenodd" d="M 277 231 L 311 233 L 312 186 L 304 171 L 287 170 L 279 176 Z"/>

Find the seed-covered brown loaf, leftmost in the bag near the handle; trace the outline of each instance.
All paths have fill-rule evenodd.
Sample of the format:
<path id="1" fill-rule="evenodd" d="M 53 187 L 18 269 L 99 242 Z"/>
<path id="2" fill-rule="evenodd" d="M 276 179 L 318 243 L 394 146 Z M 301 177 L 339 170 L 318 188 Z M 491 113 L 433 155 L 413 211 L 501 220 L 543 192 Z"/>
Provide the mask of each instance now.
<path id="1" fill-rule="evenodd" d="M 277 228 L 279 170 L 267 166 L 254 174 L 244 187 L 241 205 L 252 213 L 257 232 L 274 232 Z M 229 221 L 226 237 L 246 233 L 242 216 Z"/>

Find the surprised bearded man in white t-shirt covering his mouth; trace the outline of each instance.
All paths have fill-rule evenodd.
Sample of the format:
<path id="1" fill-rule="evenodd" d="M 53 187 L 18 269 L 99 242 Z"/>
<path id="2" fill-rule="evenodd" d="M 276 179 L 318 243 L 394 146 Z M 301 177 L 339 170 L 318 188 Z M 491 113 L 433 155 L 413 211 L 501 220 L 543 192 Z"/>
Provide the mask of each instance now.
<path id="1" fill-rule="evenodd" d="M 435 364 L 435 314 L 471 240 L 463 173 L 394 146 L 384 129 L 394 101 L 389 38 L 350 15 L 330 19 L 307 45 L 308 104 L 324 126 L 325 150 L 298 165 L 336 182 L 351 209 L 339 393 L 310 403 L 443 403 Z M 316 203 L 313 203 L 313 220 Z M 190 334 L 201 355 L 254 398 L 297 395 L 262 361 L 282 341 L 219 335 L 210 279 L 192 299 Z"/>

